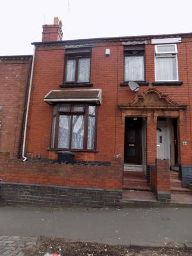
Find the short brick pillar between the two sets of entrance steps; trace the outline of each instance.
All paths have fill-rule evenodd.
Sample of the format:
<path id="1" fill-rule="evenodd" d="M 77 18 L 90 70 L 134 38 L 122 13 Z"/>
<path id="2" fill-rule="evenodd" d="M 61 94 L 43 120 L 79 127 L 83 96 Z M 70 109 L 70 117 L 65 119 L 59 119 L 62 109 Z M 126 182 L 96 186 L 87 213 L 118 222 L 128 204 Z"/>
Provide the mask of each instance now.
<path id="1" fill-rule="evenodd" d="M 162 202 L 171 201 L 169 159 L 156 158 L 155 166 L 150 168 L 150 172 L 150 183 L 157 199 Z"/>

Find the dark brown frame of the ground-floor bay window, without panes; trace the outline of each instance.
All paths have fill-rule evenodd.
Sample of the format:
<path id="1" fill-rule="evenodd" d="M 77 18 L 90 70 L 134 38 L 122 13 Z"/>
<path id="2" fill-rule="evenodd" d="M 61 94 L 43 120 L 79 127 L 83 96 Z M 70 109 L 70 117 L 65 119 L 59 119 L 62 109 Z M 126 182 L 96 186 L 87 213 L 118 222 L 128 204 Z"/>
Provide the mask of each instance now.
<path id="1" fill-rule="evenodd" d="M 63 111 L 59 110 L 61 105 L 70 105 L 70 110 L 69 111 Z M 82 111 L 74 111 L 73 107 L 75 105 L 83 105 L 83 110 Z M 95 115 L 89 114 L 89 106 L 94 106 L 95 107 Z M 56 113 L 56 114 L 55 114 Z M 58 133 L 59 133 L 59 116 L 60 115 L 69 115 L 71 116 L 71 121 L 70 121 L 70 142 L 69 142 L 69 147 L 68 148 L 58 148 Z M 77 148 L 72 148 L 72 133 L 73 133 L 73 115 L 83 115 L 84 116 L 84 136 L 83 136 L 83 148 L 77 149 Z M 50 149 L 54 150 L 65 150 L 65 151 L 96 151 L 96 133 L 97 133 L 97 105 L 94 104 L 88 104 L 88 103 L 62 103 L 62 104 L 56 104 L 53 106 L 53 115 L 52 117 L 56 118 L 55 121 L 55 132 L 53 132 L 53 118 L 52 118 L 52 129 L 51 129 L 51 141 L 50 141 Z M 89 125 L 89 117 L 95 117 L 95 136 L 94 136 L 94 147 L 92 149 L 88 149 L 88 125 Z M 53 137 L 54 135 L 54 137 Z M 53 143 L 54 142 L 54 143 Z"/>

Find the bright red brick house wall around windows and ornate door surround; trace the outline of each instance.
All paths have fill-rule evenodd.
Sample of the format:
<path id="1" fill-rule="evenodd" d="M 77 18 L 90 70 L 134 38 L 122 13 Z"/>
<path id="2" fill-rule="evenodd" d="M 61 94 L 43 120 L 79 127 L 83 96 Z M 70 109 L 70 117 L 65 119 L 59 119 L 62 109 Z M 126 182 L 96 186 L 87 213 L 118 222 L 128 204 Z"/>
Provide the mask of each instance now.
<path id="1" fill-rule="evenodd" d="M 105 56 L 105 49 L 111 49 L 111 55 Z M 102 89 L 102 105 L 99 106 L 97 120 L 97 151 L 77 152 L 75 160 L 84 161 L 114 161 L 119 158 L 124 161 L 124 121 L 118 104 L 126 104 L 141 95 L 147 88 L 158 88 L 178 104 L 187 104 L 184 111 L 182 127 L 178 127 L 180 159 L 179 163 L 190 165 L 191 162 L 191 88 L 192 42 L 189 38 L 185 43 L 178 43 L 179 80 L 182 86 L 153 86 L 155 81 L 154 45 L 146 45 L 145 66 L 146 81 L 149 86 L 141 86 L 139 92 L 134 93 L 128 87 L 119 86 L 124 81 L 124 48 L 118 40 L 103 40 L 95 42 L 92 48 L 92 63 L 90 82 L 93 89 Z M 37 46 L 34 64 L 34 79 L 32 90 L 32 104 L 30 106 L 29 129 L 27 136 L 27 156 L 56 159 L 54 151 L 49 150 L 51 134 L 52 107 L 43 102 L 43 97 L 49 90 L 60 89 L 64 74 L 64 49 L 62 45 Z M 74 88 L 76 89 L 76 88 Z M 82 88 L 84 89 L 84 88 Z M 182 96 L 181 96 L 182 95 Z M 46 115 L 45 115 L 46 113 Z M 43 117 L 43 118 L 42 118 Z M 155 125 L 148 127 L 148 131 L 156 129 Z M 153 136 L 153 138 L 150 138 Z M 156 136 L 150 133 L 147 138 L 149 164 L 155 163 Z M 188 145 L 182 145 L 188 141 Z M 151 144 L 151 145 L 150 145 Z"/>

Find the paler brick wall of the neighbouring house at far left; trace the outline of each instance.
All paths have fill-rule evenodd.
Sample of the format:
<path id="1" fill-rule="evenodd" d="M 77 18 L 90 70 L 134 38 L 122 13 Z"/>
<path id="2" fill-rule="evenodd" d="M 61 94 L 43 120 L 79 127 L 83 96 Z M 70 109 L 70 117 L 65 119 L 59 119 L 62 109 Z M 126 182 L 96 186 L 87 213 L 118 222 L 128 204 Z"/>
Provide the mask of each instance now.
<path id="1" fill-rule="evenodd" d="M 17 157 L 24 89 L 31 56 L 0 57 L 0 152 Z"/>

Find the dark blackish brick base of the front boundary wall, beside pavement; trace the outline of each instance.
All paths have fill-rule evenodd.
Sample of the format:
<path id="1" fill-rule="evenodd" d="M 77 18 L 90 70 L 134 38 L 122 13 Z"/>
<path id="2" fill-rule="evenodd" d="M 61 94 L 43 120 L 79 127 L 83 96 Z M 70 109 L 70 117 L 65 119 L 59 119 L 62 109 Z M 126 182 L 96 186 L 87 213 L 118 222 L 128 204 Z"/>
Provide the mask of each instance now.
<path id="1" fill-rule="evenodd" d="M 0 182 L 0 204 L 31 204 L 48 207 L 79 205 L 89 207 L 119 206 L 121 190 L 69 188 Z"/>

